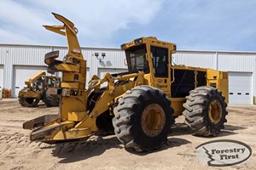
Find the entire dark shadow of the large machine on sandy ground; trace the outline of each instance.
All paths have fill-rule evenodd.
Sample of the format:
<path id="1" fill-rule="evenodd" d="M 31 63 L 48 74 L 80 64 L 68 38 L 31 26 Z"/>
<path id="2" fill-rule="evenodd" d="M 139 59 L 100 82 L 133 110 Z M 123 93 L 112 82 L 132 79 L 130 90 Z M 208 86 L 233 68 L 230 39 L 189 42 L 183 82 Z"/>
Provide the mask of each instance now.
<path id="1" fill-rule="evenodd" d="M 236 134 L 235 132 L 236 130 L 245 129 L 245 128 L 246 127 L 225 125 L 225 129 L 222 131 L 222 133 L 219 133 L 218 136 L 222 137 L 222 136 L 233 135 L 233 134 Z M 69 162 L 86 160 L 93 156 L 100 156 L 106 150 L 110 150 L 113 148 L 124 150 L 124 151 L 126 150 L 137 156 L 146 156 L 148 154 L 151 154 L 152 152 L 168 150 L 171 148 L 181 146 L 183 144 L 191 143 L 187 139 L 177 138 L 177 136 L 184 135 L 184 134 L 192 135 L 192 131 L 189 130 L 189 128 L 186 126 L 185 123 L 176 123 L 170 129 L 170 133 L 168 134 L 167 141 L 164 144 L 162 144 L 159 149 L 143 151 L 140 153 L 137 153 L 133 150 L 124 149 L 124 145 L 121 144 L 119 142 L 119 139 L 117 139 L 114 135 L 110 135 L 107 137 L 92 136 L 91 137 L 92 139 L 90 138 L 87 141 L 72 142 L 67 144 L 55 144 L 48 147 L 48 149 L 52 149 L 53 156 L 61 158 L 61 161 L 59 161 L 60 163 L 69 163 Z M 199 138 L 214 139 L 216 137 L 199 137 Z"/>

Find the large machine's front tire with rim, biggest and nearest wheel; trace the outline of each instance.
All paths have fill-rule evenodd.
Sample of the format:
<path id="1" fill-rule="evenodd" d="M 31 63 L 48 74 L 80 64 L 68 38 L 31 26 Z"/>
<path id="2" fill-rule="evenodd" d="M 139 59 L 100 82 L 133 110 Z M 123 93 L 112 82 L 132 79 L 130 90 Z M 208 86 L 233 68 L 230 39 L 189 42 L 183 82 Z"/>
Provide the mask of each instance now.
<path id="1" fill-rule="evenodd" d="M 158 149 L 167 140 L 174 123 L 171 101 L 162 91 L 149 86 L 126 91 L 113 112 L 117 138 L 125 148 L 137 152 Z"/>

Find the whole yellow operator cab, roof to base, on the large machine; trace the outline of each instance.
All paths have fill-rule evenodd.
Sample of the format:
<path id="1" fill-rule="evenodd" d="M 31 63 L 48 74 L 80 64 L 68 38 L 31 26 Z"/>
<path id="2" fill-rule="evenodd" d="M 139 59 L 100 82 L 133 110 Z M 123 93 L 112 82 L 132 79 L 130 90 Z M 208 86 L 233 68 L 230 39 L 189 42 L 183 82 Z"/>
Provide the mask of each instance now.
<path id="1" fill-rule="evenodd" d="M 143 71 L 150 75 L 148 82 L 160 88 L 166 94 L 171 94 L 171 64 L 172 54 L 176 44 L 162 42 L 156 37 L 142 37 L 121 46 L 125 49 L 129 73 Z M 151 74 L 149 74 L 151 73 Z"/>

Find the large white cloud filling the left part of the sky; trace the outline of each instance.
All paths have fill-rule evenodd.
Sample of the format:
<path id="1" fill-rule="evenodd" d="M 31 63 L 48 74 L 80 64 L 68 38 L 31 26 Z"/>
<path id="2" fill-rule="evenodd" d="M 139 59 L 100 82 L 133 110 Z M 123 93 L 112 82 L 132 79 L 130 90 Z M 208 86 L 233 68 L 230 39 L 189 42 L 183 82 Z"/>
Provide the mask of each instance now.
<path id="1" fill-rule="evenodd" d="M 61 24 L 50 16 L 50 12 L 55 12 L 74 22 L 79 29 L 81 44 L 108 46 L 116 31 L 129 29 L 130 24 L 145 25 L 153 20 L 161 8 L 161 2 L 151 0 L 62 0 L 61 2 L 0 0 L 0 28 L 9 35 L 26 37 L 6 39 L 6 36 L 0 34 L 0 42 L 64 44 L 64 41 L 54 40 L 56 36 L 52 36 L 42 28 L 42 25 Z"/>

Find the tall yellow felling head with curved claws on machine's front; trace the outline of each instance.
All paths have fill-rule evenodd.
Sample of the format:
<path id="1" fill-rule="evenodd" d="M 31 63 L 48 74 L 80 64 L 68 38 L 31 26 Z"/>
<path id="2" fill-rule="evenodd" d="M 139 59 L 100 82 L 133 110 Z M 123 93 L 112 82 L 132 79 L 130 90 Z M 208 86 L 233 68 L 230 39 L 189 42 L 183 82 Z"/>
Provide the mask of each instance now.
<path id="1" fill-rule="evenodd" d="M 63 23 L 63 26 L 44 27 L 67 37 L 68 47 L 68 53 L 62 61 L 57 60 L 59 52 L 50 52 L 45 54 L 44 58 L 45 64 L 48 65 L 48 71 L 62 72 L 59 116 L 58 118 L 41 116 L 23 124 L 26 129 L 36 127 L 31 133 L 31 140 L 40 140 L 46 143 L 83 139 L 92 134 L 91 125 L 79 129 L 75 128 L 75 125 L 87 116 L 86 61 L 81 53 L 76 35 L 78 30 L 70 20 L 60 14 L 54 14 L 54 16 Z"/>

